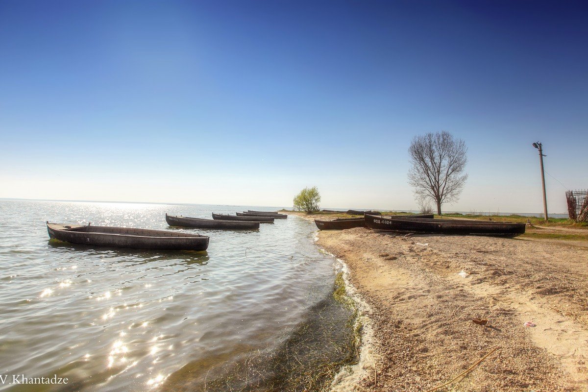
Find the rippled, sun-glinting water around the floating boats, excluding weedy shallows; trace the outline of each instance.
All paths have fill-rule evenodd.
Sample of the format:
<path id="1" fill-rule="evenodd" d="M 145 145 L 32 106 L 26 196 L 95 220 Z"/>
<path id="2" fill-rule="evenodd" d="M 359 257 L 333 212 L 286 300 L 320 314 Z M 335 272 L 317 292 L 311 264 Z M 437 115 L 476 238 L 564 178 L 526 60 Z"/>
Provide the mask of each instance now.
<path id="1" fill-rule="evenodd" d="M 68 377 L 63 390 L 201 390 L 227 363 L 282 350 L 332 297 L 336 265 L 313 244 L 311 222 L 290 216 L 249 232 L 186 229 L 211 237 L 207 252 L 52 243 L 45 227 L 89 220 L 175 230 L 166 212 L 210 218 L 243 209 L 0 201 L 0 373 Z"/>

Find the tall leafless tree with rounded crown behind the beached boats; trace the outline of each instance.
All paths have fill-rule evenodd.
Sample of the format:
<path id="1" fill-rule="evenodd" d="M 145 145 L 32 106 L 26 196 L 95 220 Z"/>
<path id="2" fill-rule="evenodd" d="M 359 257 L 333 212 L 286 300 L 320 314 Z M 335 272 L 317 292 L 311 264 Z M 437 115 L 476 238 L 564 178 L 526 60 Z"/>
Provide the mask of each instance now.
<path id="1" fill-rule="evenodd" d="M 457 202 L 466 183 L 466 143 L 443 130 L 415 136 L 408 152 L 412 164 L 408 182 L 417 200 L 434 200 L 437 214 L 441 215 L 441 205 Z"/>

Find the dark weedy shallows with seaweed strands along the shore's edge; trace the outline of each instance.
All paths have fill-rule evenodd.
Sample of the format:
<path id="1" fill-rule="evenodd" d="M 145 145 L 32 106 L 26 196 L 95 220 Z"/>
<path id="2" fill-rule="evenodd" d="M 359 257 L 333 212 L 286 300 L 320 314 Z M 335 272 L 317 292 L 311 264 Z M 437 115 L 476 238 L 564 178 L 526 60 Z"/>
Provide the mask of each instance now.
<path id="1" fill-rule="evenodd" d="M 358 363 L 358 309 L 346 295 L 343 274 L 333 293 L 319 301 L 309 316 L 277 350 L 255 350 L 237 362 L 211 369 L 206 379 L 186 383 L 179 374 L 163 390 L 190 391 L 324 391 L 345 366 Z"/>

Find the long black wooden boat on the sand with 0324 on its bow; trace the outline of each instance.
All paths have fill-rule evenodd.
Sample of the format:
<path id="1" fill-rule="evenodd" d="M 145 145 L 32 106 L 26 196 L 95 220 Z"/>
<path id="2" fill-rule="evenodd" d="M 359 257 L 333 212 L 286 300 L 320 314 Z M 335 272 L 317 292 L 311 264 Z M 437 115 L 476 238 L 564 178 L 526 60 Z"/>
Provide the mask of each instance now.
<path id="1" fill-rule="evenodd" d="M 473 219 L 433 219 L 433 217 L 423 218 L 416 217 L 416 215 L 392 217 L 366 215 L 365 222 L 370 229 L 390 230 L 393 232 L 507 237 L 515 237 L 524 233 L 524 223 L 490 222 Z"/>

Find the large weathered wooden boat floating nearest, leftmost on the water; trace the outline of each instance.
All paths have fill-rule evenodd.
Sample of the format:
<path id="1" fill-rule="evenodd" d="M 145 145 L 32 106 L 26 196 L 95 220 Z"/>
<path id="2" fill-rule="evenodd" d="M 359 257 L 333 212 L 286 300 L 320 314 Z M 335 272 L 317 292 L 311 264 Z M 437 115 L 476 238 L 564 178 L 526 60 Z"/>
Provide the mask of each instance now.
<path id="1" fill-rule="evenodd" d="M 47 222 L 47 232 L 52 239 L 75 244 L 135 249 L 206 250 L 209 240 L 209 237 L 200 234 L 90 224 L 83 226 Z"/>

